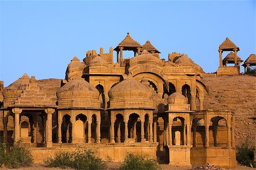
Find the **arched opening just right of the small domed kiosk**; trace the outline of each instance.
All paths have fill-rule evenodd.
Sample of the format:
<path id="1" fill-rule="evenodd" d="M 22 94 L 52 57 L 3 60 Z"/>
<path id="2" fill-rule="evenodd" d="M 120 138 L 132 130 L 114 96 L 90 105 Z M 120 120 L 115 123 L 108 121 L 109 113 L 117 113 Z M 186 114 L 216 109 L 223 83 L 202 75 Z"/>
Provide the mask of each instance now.
<path id="1" fill-rule="evenodd" d="M 192 121 L 192 145 L 193 147 L 205 146 L 205 126 L 201 117 L 196 117 Z"/>

